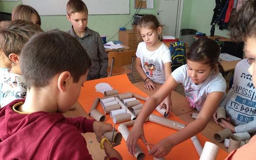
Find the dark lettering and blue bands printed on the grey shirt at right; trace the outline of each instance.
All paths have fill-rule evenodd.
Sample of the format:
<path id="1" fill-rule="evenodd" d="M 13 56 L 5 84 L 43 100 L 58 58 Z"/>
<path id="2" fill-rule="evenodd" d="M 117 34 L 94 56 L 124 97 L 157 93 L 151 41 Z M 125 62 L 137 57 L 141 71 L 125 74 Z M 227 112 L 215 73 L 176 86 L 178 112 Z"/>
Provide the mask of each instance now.
<path id="1" fill-rule="evenodd" d="M 239 112 L 237 115 L 238 121 L 249 123 L 254 120 L 253 116 L 256 116 L 256 92 L 252 83 L 252 75 L 242 73 L 240 78 L 240 81 L 245 81 L 247 85 L 233 86 L 237 96 L 230 101 L 228 108 Z"/>

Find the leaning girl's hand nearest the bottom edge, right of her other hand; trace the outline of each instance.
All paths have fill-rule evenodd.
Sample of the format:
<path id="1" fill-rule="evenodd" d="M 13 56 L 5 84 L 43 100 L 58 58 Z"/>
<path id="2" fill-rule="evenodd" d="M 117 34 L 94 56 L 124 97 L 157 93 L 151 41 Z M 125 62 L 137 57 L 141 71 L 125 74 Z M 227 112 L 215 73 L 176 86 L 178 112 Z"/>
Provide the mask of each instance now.
<path id="1" fill-rule="evenodd" d="M 162 158 L 171 151 L 172 147 L 172 143 L 169 139 L 163 138 L 149 151 L 149 155 L 152 155 L 155 158 Z"/>

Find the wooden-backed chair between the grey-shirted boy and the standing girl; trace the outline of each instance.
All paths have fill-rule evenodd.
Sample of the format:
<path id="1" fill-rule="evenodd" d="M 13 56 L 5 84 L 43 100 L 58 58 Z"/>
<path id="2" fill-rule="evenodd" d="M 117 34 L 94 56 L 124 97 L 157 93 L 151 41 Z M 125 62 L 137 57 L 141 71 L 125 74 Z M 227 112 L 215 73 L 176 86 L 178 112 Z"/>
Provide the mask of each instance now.
<path id="1" fill-rule="evenodd" d="M 134 83 L 134 76 L 133 73 L 133 64 L 135 58 L 135 50 L 124 51 L 124 52 L 109 52 L 108 53 L 108 74 L 109 76 L 112 75 L 119 75 L 119 74 L 128 74 L 131 76 Z M 131 64 L 131 68 L 124 65 Z"/>

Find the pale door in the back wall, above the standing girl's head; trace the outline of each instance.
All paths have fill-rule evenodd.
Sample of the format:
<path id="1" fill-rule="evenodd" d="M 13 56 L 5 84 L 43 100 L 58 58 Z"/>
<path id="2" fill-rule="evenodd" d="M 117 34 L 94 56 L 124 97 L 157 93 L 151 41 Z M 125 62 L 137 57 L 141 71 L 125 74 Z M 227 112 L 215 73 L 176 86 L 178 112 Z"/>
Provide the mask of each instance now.
<path id="1" fill-rule="evenodd" d="M 158 0 L 158 19 L 162 27 L 162 35 L 178 35 L 178 8 L 180 0 Z"/>

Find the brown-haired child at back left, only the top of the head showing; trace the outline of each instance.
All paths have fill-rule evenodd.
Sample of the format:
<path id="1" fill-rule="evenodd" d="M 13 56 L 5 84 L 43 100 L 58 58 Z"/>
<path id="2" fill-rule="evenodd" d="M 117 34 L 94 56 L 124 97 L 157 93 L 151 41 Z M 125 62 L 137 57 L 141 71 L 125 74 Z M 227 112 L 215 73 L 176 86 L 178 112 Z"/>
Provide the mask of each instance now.
<path id="1" fill-rule="evenodd" d="M 41 18 L 37 11 L 29 5 L 18 5 L 12 10 L 12 21 L 21 19 L 41 26 Z"/>

